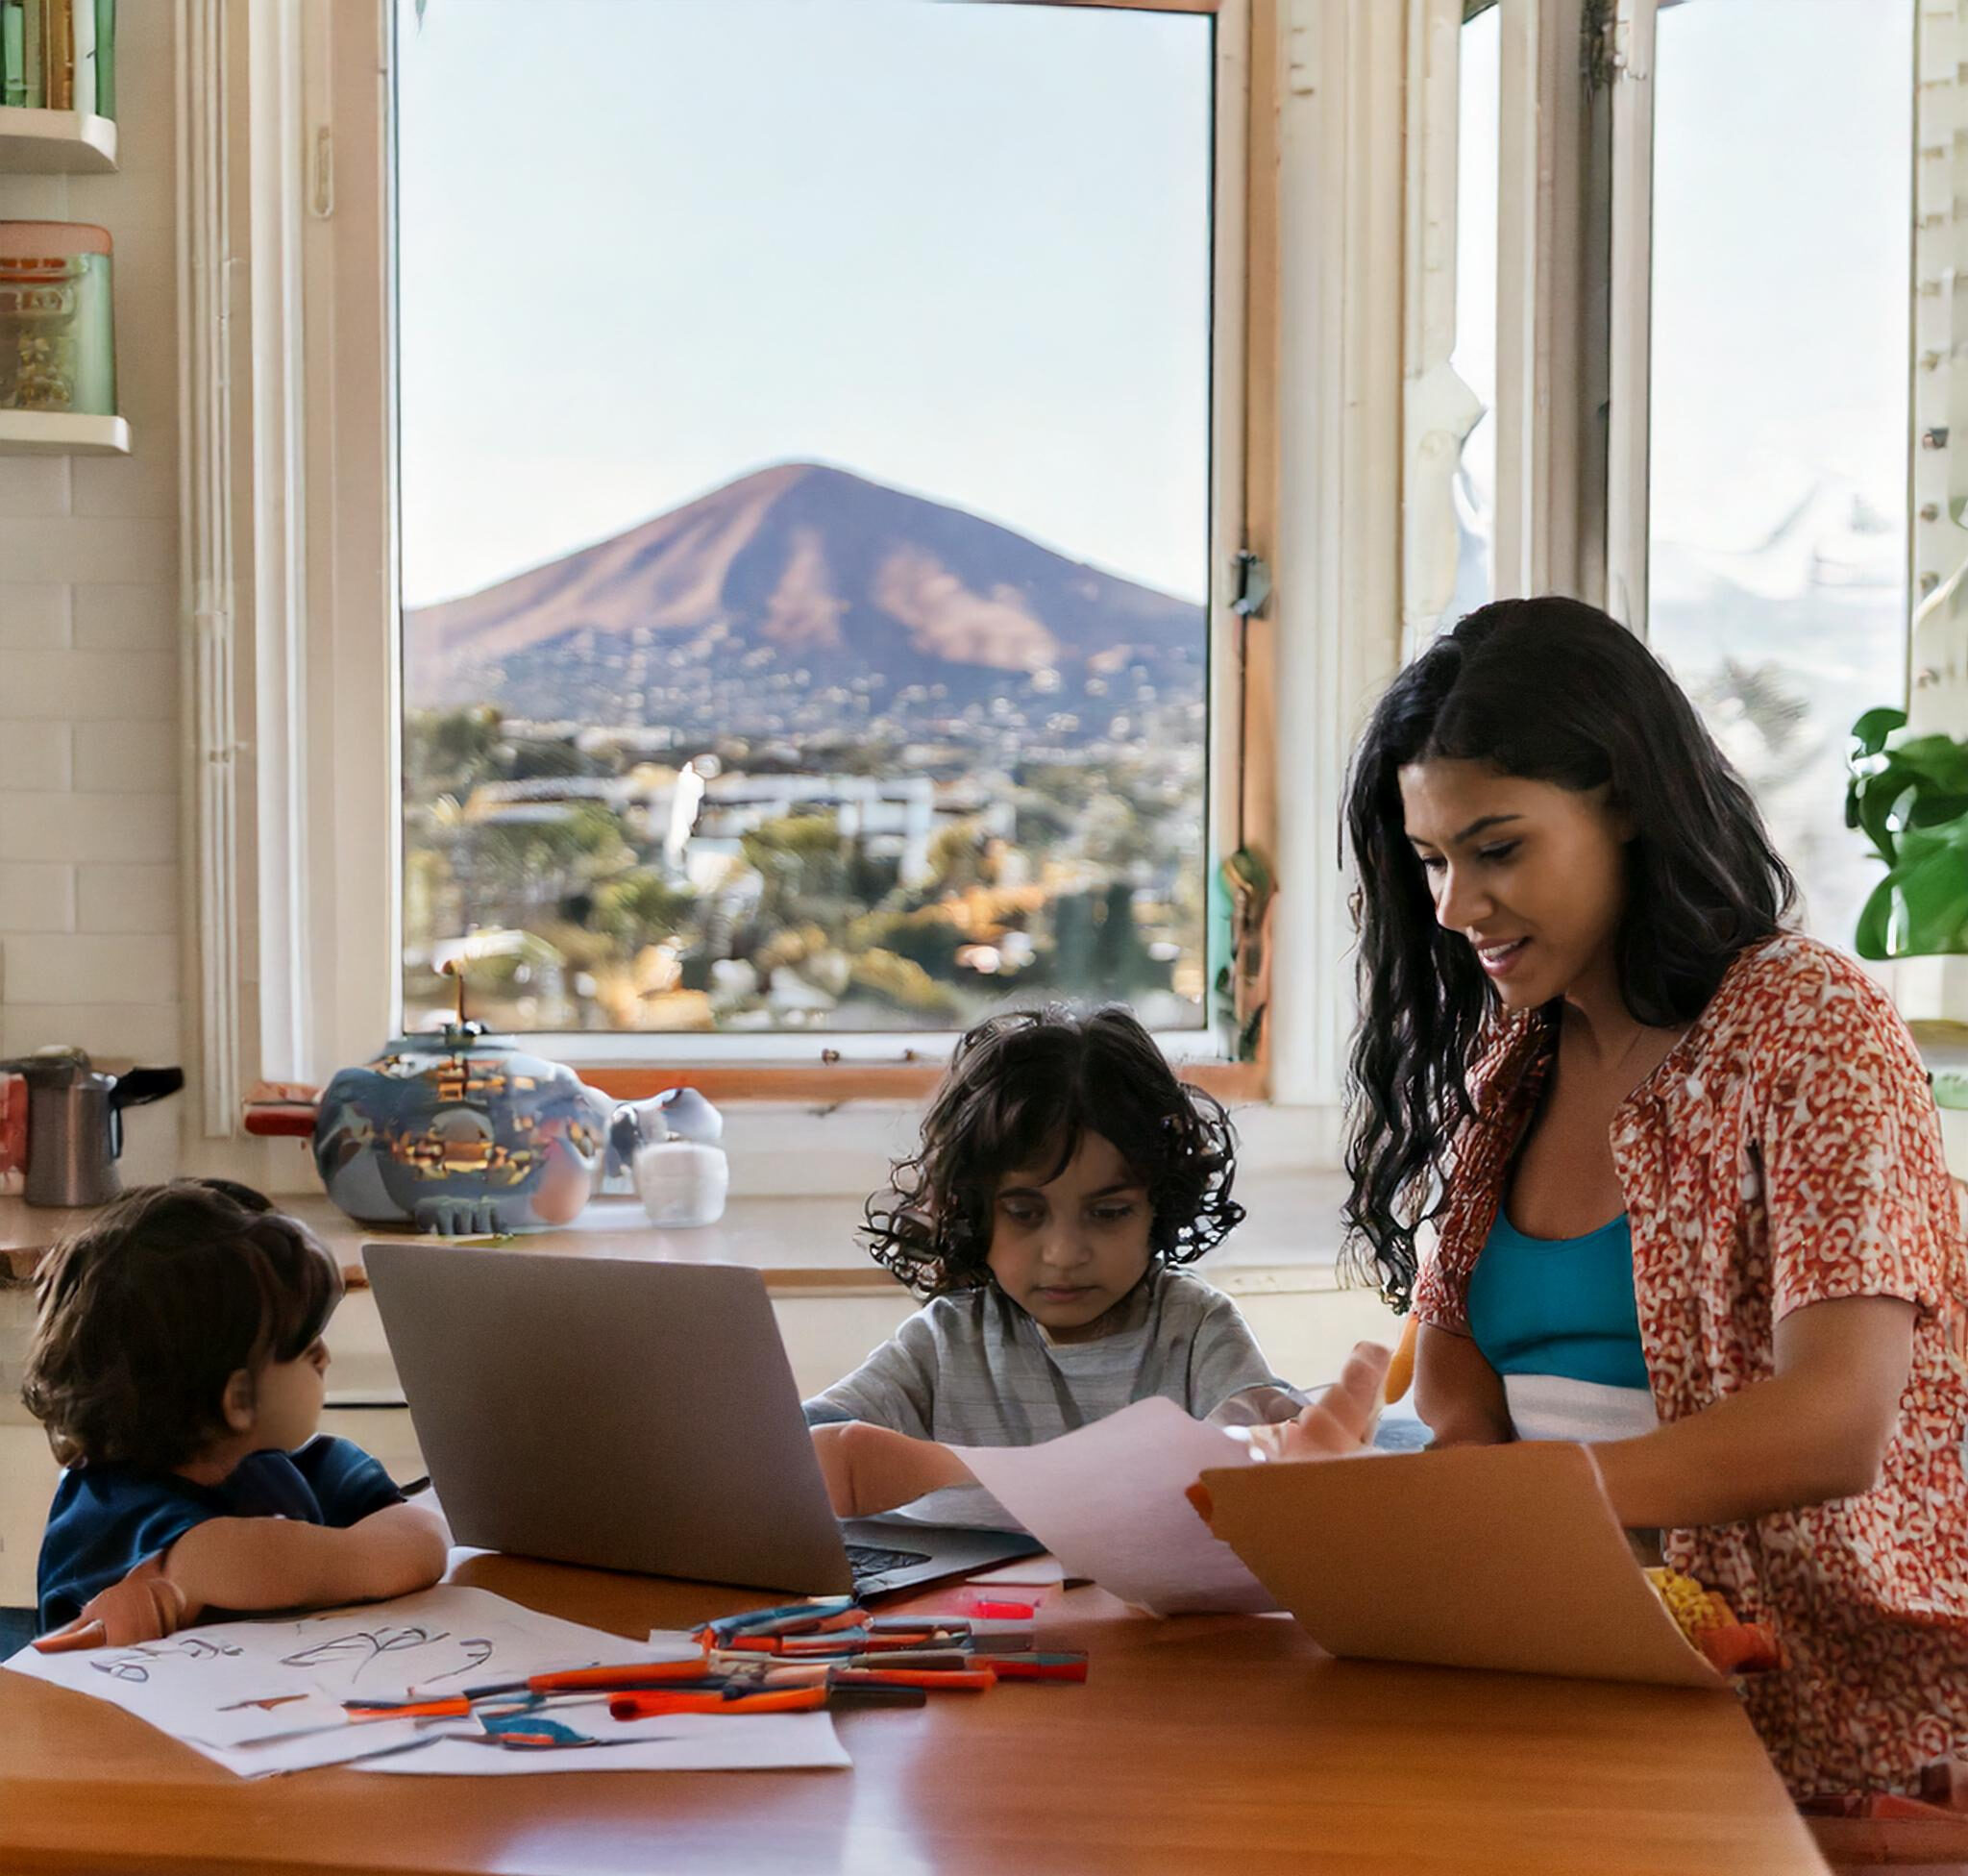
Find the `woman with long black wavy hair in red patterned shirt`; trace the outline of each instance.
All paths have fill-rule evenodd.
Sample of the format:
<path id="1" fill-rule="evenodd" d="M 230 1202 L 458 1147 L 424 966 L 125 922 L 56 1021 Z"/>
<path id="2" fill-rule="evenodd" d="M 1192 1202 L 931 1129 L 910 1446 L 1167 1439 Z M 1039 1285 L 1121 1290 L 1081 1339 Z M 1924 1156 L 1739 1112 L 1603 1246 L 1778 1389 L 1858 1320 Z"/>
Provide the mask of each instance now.
<path id="1" fill-rule="evenodd" d="M 1905 1026 L 1791 929 L 1742 782 L 1592 606 L 1441 638 L 1346 815 L 1350 1222 L 1421 1417 L 1596 1441 L 1620 1520 L 1777 1628 L 1746 1701 L 1793 1793 L 1911 1789 L 1968 1752 L 1968 1280 Z"/>

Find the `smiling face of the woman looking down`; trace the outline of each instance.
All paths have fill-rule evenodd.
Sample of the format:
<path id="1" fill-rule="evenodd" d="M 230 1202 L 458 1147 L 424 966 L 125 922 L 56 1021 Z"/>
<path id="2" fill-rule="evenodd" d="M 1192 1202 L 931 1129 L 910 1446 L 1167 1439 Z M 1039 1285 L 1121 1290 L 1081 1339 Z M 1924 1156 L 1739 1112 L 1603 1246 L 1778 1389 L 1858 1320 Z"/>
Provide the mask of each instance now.
<path id="1" fill-rule="evenodd" d="M 1616 984 L 1633 829 L 1608 789 L 1527 782 L 1486 762 L 1411 762 L 1401 809 L 1435 917 L 1468 939 L 1507 1008 Z"/>

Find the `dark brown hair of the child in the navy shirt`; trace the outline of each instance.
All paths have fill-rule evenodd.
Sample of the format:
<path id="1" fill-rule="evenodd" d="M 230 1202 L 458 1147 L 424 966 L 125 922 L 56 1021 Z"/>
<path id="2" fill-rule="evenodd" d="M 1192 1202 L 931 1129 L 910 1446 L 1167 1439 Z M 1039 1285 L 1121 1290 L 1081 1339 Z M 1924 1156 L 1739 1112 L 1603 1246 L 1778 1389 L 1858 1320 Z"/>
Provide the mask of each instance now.
<path id="1" fill-rule="evenodd" d="M 333 1254 L 250 1185 L 142 1185 L 49 1252 L 20 1398 L 63 1465 L 167 1472 L 226 1433 L 232 1374 L 297 1360 Z"/>

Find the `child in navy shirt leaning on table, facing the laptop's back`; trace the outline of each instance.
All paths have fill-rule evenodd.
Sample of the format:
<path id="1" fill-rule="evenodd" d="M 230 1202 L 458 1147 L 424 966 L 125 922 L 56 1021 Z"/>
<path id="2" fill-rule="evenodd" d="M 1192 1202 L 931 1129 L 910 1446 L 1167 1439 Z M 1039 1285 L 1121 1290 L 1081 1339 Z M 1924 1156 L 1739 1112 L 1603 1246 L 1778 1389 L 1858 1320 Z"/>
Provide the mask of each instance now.
<path id="1" fill-rule="evenodd" d="M 55 1248 L 22 1384 L 67 1467 L 35 1646 L 120 1648 L 443 1575 L 435 1512 L 315 1433 L 340 1297 L 307 1226 L 222 1179 L 140 1187 Z"/>

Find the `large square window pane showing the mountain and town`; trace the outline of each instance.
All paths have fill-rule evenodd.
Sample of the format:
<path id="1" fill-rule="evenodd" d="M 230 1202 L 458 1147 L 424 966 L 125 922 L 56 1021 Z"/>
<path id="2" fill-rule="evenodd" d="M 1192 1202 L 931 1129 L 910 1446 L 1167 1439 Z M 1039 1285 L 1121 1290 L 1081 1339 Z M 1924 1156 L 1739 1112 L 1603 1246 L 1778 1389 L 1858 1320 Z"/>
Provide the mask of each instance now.
<path id="1" fill-rule="evenodd" d="M 403 1002 L 1204 1020 L 1212 22 L 401 0 Z"/>

